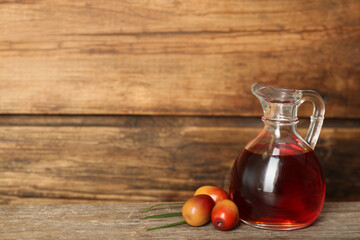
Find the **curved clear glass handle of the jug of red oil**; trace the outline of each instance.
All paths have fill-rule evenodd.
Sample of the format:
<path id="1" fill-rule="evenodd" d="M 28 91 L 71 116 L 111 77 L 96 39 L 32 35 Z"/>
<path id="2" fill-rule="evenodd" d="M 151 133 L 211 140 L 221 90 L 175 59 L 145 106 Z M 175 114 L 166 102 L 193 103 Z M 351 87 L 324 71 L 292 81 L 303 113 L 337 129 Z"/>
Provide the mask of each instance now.
<path id="1" fill-rule="evenodd" d="M 325 103 L 320 94 L 312 90 L 300 90 L 300 105 L 309 101 L 313 104 L 313 113 L 310 117 L 310 126 L 305 137 L 305 141 L 312 149 L 315 149 L 316 142 L 319 138 L 325 115 Z"/>

